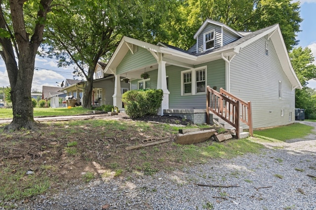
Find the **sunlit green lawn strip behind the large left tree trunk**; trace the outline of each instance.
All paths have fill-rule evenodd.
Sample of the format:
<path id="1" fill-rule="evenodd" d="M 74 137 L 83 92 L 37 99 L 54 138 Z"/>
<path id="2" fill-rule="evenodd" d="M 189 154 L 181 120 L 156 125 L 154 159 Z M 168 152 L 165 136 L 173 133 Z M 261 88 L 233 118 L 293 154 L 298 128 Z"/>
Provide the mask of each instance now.
<path id="1" fill-rule="evenodd" d="M 80 115 L 91 112 L 89 109 L 82 107 L 68 108 L 34 108 L 34 117 L 39 116 L 67 116 L 67 115 Z M 0 119 L 13 118 L 12 109 L 0 109 Z"/>

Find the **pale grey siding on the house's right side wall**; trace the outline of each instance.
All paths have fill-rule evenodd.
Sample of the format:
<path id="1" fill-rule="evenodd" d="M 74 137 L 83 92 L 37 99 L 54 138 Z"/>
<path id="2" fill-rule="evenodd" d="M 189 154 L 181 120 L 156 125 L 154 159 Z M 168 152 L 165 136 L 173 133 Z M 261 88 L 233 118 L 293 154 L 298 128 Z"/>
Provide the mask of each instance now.
<path id="1" fill-rule="evenodd" d="M 254 128 L 284 125 L 295 120 L 295 90 L 281 68 L 271 41 L 268 41 L 269 55 L 265 55 L 266 41 L 263 37 L 248 45 L 231 61 L 231 93 L 252 102 Z M 278 97 L 278 81 L 282 82 L 282 98 Z M 281 109 L 284 109 L 283 117 Z"/>

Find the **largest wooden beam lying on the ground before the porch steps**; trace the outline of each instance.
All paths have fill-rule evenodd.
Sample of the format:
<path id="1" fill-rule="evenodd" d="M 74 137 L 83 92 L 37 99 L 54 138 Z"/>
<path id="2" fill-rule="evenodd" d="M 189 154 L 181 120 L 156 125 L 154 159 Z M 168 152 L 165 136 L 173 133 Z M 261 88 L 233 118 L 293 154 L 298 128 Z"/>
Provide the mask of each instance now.
<path id="1" fill-rule="evenodd" d="M 176 136 L 175 142 L 181 145 L 205 142 L 206 140 L 211 138 L 211 136 L 213 136 L 215 132 L 216 132 L 215 129 L 210 129 L 210 130 L 194 131 L 194 132 L 189 132 L 189 133 L 184 133 L 184 134 L 179 133 Z"/>

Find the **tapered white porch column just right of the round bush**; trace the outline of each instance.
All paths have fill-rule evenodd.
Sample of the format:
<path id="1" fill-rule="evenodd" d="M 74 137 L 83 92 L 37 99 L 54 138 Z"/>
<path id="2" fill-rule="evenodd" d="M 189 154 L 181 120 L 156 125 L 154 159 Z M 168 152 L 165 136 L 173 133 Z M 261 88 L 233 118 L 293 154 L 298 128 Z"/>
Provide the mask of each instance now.
<path id="1" fill-rule="evenodd" d="M 161 59 L 158 61 L 157 89 L 161 89 L 163 91 L 161 107 L 159 108 L 159 111 L 158 111 L 158 115 L 163 116 L 163 110 L 169 109 L 170 92 L 167 89 L 166 61 L 162 61 Z"/>

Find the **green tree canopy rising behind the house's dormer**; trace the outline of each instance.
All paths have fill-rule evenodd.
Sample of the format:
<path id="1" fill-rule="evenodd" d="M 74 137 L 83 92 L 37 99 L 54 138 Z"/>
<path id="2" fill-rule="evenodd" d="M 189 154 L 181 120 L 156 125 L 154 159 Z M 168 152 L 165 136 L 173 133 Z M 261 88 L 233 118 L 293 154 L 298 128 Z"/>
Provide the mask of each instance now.
<path id="1" fill-rule="evenodd" d="M 166 26 L 169 44 L 188 49 L 194 45 L 193 35 L 207 19 L 226 24 L 234 30 L 255 31 L 279 24 L 285 46 L 290 51 L 299 40 L 300 2 L 290 0 L 183 0 L 174 19 Z M 174 34 L 172 30 L 178 30 Z"/>

